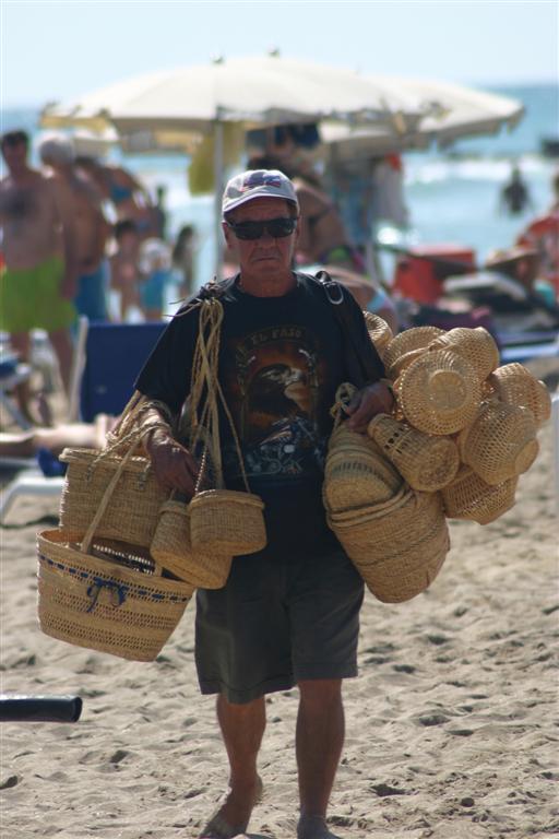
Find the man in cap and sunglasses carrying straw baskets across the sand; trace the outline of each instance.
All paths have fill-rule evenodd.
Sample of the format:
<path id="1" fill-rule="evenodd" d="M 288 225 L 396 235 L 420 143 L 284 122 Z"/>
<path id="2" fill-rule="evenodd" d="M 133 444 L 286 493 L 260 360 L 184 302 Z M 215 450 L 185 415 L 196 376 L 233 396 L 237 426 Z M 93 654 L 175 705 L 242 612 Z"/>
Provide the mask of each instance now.
<path id="1" fill-rule="evenodd" d="M 224 589 L 199 590 L 195 659 L 202 693 L 217 694 L 217 718 L 230 764 L 227 799 L 201 836 L 243 832 L 261 793 L 257 758 L 265 694 L 297 684 L 298 839 L 333 839 L 325 823 L 344 740 L 342 680 L 356 675 L 362 581 L 329 530 L 321 500 L 330 407 L 347 380 L 343 303 L 354 339 L 382 375 L 362 314 L 334 284 L 292 271 L 300 229 L 294 186 L 278 170 L 233 178 L 223 199 L 223 231 L 240 273 L 217 285 L 224 307 L 219 382 L 240 439 L 251 492 L 265 504 L 267 546 L 235 557 Z M 207 293 L 212 293 L 211 287 Z M 146 422 L 176 417 L 188 391 L 197 311 L 170 322 L 136 382 L 154 400 Z M 160 407 L 160 405 L 164 407 Z M 364 387 L 347 421 L 365 432 L 392 397 Z M 173 422 L 173 420 L 171 420 Z M 238 488 L 234 440 L 221 437 L 226 485 Z M 160 484 L 192 496 L 198 464 L 170 428 L 146 449 Z"/>

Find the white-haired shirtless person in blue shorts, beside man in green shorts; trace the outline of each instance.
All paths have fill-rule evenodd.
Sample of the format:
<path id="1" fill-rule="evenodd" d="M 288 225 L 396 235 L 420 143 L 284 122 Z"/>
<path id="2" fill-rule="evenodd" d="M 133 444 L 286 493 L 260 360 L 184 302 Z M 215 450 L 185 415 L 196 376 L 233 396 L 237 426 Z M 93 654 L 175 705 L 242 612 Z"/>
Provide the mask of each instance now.
<path id="1" fill-rule="evenodd" d="M 107 320 L 105 245 L 108 225 L 102 211 L 100 193 L 76 170 L 69 138 L 63 134 L 45 138 L 39 143 L 39 155 L 72 208 L 78 263 L 75 308 L 90 320 Z"/>

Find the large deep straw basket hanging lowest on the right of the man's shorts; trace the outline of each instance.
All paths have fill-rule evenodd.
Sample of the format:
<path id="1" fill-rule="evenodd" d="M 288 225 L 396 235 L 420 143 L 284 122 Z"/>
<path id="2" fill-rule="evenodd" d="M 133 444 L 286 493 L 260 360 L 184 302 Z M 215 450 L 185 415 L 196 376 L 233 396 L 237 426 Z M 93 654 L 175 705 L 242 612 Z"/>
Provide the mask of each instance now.
<path id="1" fill-rule="evenodd" d="M 384 603 L 419 594 L 439 572 L 450 547 L 438 493 L 406 491 L 392 507 L 361 520 L 329 523 L 370 592 Z"/>

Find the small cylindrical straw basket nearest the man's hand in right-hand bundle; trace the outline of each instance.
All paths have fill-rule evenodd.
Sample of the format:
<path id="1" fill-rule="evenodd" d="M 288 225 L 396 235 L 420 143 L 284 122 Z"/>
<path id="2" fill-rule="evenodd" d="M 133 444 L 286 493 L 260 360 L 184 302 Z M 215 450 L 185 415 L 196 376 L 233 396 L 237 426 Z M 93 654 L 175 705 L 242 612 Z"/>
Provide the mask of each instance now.
<path id="1" fill-rule="evenodd" d="M 373 417 L 368 434 L 413 489 L 442 489 L 459 471 L 459 450 L 449 437 L 432 437 L 388 414 Z"/>

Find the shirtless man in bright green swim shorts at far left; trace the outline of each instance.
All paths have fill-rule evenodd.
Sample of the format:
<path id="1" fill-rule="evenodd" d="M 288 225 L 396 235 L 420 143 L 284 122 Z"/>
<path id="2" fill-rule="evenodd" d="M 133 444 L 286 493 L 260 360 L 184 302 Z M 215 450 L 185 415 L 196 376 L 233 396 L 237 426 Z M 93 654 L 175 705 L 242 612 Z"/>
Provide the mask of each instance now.
<path id="1" fill-rule="evenodd" d="M 29 332 L 48 332 L 68 388 L 72 362 L 69 327 L 75 260 L 72 210 L 56 185 L 27 165 L 28 137 L 10 131 L 1 139 L 8 176 L 0 181 L 0 226 L 5 267 L 0 273 L 0 329 L 10 332 L 21 358 L 29 357 Z M 22 413 L 29 410 L 28 383 L 17 390 Z"/>

